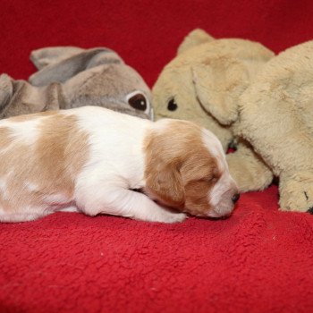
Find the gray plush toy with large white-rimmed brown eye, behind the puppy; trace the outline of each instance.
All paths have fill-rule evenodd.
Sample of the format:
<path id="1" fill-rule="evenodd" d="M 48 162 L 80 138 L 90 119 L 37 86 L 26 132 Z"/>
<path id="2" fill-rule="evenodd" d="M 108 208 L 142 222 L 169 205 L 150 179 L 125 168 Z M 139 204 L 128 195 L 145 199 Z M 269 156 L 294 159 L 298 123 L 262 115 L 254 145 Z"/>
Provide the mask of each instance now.
<path id="1" fill-rule="evenodd" d="M 0 118 L 77 106 L 104 106 L 152 119 L 150 90 L 140 74 L 107 48 L 33 51 L 30 80 L 0 76 Z"/>

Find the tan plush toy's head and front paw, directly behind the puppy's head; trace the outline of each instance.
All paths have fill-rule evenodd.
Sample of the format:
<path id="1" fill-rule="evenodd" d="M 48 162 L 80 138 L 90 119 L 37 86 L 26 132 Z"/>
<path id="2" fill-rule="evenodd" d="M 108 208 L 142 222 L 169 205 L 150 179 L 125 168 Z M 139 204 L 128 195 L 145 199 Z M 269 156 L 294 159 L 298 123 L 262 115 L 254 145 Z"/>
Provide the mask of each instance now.
<path id="1" fill-rule="evenodd" d="M 241 191 L 266 188 L 273 173 L 248 143 L 234 135 L 228 120 L 237 118 L 238 98 L 273 56 L 257 42 L 215 39 L 204 30 L 193 30 L 153 88 L 157 119 L 171 117 L 199 123 L 216 134 L 225 151 L 235 141 L 237 151 L 228 155 L 227 161 Z M 203 92 L 205 99 L 201 98 Z M 216 104 L 209 106 L 212 112 L 208 104 Z M 221 114 L 224 110 L 226 117 Z"/>

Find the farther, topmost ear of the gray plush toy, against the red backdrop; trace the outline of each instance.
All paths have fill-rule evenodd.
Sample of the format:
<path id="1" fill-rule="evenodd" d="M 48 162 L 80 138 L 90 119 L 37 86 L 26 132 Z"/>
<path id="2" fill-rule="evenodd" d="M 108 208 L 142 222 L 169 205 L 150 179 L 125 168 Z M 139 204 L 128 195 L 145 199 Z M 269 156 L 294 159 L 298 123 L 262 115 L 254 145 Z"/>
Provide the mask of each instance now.
<path id="1" fill-rule="evenodd" d="M 83 51 L 84 49 L 80 47 L 44 47 L 31 51 L 30 61 L 34 63 L 38 70 L 41 70 L 47 65 L 58 63 Z"/>

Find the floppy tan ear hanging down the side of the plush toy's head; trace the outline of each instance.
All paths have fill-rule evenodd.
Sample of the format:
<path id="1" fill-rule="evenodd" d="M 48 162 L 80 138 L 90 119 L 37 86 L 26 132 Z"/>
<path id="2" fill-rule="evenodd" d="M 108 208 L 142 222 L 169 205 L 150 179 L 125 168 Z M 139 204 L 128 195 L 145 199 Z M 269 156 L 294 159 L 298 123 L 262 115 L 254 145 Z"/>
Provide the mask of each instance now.
<path id="1" fill-rule="evenodd" d="M 200 105 L 224 125 L 238 116 L 238 98 L 248 87 L 249 74 L 235 59 L 210 58 L 191 68 L 196 97 Z"/>

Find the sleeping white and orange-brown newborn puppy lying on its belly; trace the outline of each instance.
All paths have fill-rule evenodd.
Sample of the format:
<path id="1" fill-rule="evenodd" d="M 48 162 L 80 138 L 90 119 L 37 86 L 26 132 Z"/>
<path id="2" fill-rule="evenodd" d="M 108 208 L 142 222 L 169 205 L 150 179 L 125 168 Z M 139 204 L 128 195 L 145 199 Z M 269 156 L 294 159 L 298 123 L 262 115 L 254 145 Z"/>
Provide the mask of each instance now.
<path id="1" fill-rule="evenodd" d="M 228 216 L 239 198 L 210 131 L 97 106 L 0 121 L 0 158 L 2 222 L 71 211 L 175 223 Z"/>

